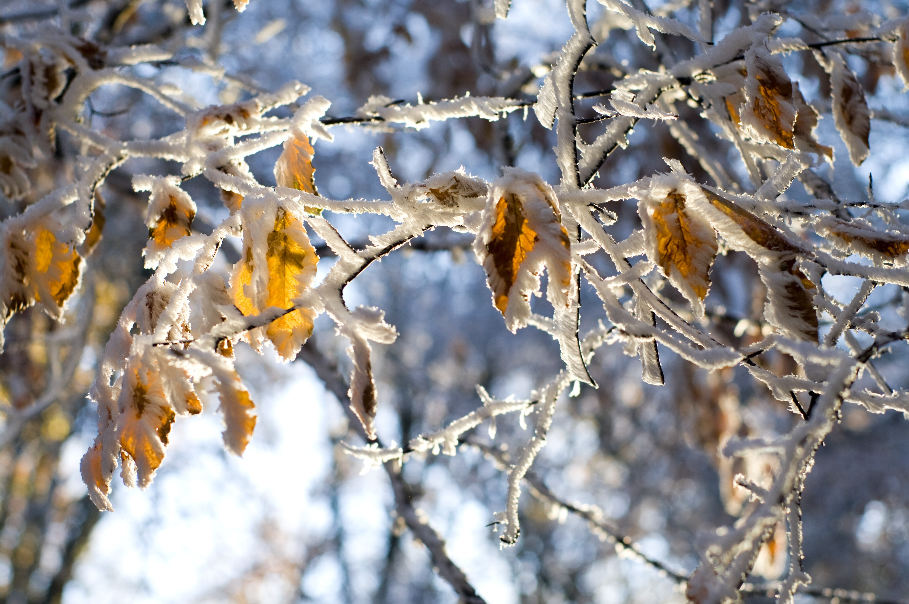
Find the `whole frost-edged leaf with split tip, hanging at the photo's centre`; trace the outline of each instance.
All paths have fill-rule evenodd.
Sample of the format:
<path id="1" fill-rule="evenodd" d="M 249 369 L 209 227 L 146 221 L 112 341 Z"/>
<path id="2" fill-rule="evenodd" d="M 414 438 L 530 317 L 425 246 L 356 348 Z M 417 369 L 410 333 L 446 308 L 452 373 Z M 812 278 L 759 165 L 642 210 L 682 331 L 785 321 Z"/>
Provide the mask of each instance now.
<path id="1" fill-rule="evenodd" d="M 506 168 L 493 183 L 474 252 L 486 271 L 493 304 L 512 332 L 527 323 L 529 296 L 539 292 L 544 266 L 547 299 L 554 306 L 567 305 L 571 240 L 552 187 L 537 174 Z"/>

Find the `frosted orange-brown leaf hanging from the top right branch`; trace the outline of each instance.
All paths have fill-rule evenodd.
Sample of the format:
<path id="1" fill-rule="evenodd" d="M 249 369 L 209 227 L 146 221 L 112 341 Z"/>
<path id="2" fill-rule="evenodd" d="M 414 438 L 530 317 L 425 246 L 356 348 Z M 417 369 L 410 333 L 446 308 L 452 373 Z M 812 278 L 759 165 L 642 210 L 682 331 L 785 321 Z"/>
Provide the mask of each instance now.
<path id="1" fill-rule="evenodd" d="M 764 46 L 755 45 L 744 54 L 744 64 L 747 76 L 740 119 L 745 133 L 759 143 L 794 149 L 797 109 L 783 63 Z"/>

